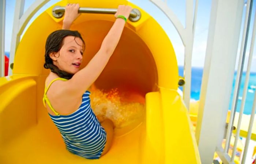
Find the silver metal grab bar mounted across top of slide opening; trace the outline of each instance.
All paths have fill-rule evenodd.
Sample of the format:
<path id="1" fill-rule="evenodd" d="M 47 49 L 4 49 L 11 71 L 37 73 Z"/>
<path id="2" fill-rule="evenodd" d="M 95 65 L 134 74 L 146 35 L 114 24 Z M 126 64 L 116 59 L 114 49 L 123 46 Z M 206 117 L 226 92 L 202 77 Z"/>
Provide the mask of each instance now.
<path id="1" fill-rule="evenodd" d="M 65 7 L 55 6 L 52 9 L 52 15 L 56 18 L 63 17 L 65 12 Z M 78 13 L 102 13 L 102 14 L 115 14 L 117 12 L 116 8 L 89 8 L 89 7 L 80 7 Z M 138 9 L 132 9 L 129 20 L 132 22 L 137 22 L 141 17 L 141 13 Z"/>

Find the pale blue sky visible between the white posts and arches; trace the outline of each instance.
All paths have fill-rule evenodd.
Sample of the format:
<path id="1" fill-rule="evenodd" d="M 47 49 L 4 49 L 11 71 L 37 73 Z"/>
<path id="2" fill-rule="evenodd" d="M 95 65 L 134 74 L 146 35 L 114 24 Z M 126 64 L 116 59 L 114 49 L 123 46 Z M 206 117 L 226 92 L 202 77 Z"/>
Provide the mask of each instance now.
<path id="1" fill-rule="evenodd" d="M 26 0 L 25 1 L 25 11 L 26 9 L 34 2 L 35 0 Z M 51 5 L 55 4 L 59 0 L 50 0 L 44 7 L 42 7 L 32 18 L 29 24 L 45 9 L 49 8 Z M 129 0 L 135 5 L 138 5 L 140 8 L 144 9 L 151 16 L 154 17 L 155 20 L 162 26 L 162 28 L 166 31 L 166 34 L 169 36 L 172 41 L 174 50 L 176 52 L 178 65 L 183 65 L 184 61 L 184 46 L 181 42 L 180 36 L 178 35 L 176 29 L 173 24 L 169 21 L 169 19 L 164 15 L 164 13 L 158 9 L 153 3 L 149 0 Z M 185 25 L 185 0 L 167 0 L 167 5 L 173 10 L 173 12 L 177 15 L 180 22 Z M 255 9 L 256 3 L 253 4 L 253 9 Z M 10 51 L 11 44 L 11 33 L 14 19 L 14 8 L 15 8 L 15 0 L 6 0 L 6 24 L 5 24 L 5 51 Z M 244 7 L 245 9 L 246 7 Z M 192 54 L 192 66 L 193 67 L 203 67 L 204 65 L 204 56 L 206 51 L 206 43 L 207 43 L 207 34 L 208 34 L 208 25 L 210 21 L 210 11 L 211 11 L 211 0 L 199 0 L 198 3 L 198 12 L 197 12 L 197 20 L 196 20 L 196 30 L 195 30 L 195 38 L 194 38 L 194 46 L 193 46 L 193 54 Z M 245 13 L 245 10 L 244 10 Z M 254 13 L 252 13 L 252 22 L 253 25 Z M 244 21 L 244 20 L 243 20 Z M 252 28 L 251 28 L 252 29 Z M 26 30 L 26 29 L 25 29 Z M 243 30 L 243 26 L 241 28 L 241 32 Z M 251 40 L 252 31 L 249 33 L 249 40 Z M 248 42 L 248 49 L 246 51 L 246 61 L 248 59 L 250 42 Z M 240 46 L 238 46 L 238 52 Z M 255 50 L 256 51 L 256 50 Z M 247 62 L 245 62 L 245 69 L 247 67 Z M 254 52 L 252 67 L 251 70 L 256 72 L 256 52 Z"/>

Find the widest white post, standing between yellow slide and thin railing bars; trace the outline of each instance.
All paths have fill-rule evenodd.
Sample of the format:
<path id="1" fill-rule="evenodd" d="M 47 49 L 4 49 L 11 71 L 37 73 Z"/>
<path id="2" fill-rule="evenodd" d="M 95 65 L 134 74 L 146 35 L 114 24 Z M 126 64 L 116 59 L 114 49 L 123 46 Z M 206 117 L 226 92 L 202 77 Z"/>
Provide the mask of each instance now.
<path id="1" fill-rule="evenodd" d="M 203 164 L 211 164 L 226 127 L 244 3 L 214 0 L 200 93 L 196 140 Z"/>

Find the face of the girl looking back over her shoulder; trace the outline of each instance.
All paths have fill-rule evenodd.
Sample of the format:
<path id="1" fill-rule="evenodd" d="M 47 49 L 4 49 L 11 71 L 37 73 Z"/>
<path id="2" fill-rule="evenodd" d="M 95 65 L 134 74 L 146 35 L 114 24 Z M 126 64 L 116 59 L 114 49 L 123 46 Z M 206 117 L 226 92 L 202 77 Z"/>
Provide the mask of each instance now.
<path id="1" fill-rule="evenodd" d="M 75 36 L 67 36 L 60 51 L 51 53 L 50 57 L 60 70 L 75 74 L 83 60 L 83 42 Z"/>

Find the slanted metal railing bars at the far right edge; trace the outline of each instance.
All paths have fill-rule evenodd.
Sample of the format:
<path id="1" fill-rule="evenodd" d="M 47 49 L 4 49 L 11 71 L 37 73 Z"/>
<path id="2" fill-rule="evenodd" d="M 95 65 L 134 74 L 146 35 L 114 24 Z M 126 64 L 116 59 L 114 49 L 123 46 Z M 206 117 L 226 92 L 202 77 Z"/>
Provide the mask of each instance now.
<path id="1" fill-rule="evenodd" d="M 242 81 L 242 73 L 243 73 L 243 69 L 244 69 L 246 46 L 247 46 L 247 42 L 248 42 L 249 27 L 250 27 L 250 22 L 251 22 L 252 6 L 253 6 L 253 0 L 247 0 L 245 21 L 244 21 L 244 31 L 243 31 L 243 35 L 242 35 L 240 56 L 239 56 L 238 68 L 237 68 L 238 71 L 237 71 L 236 83 L 235 83 L 235 87 L 234 87 L 234 95 L 233 95 L 233 100 L 232 100 L 232 107 L 231 107 L 230 118 L 229 118 L 230 121 L 227 126 L 226 137 L 225 137 L 225 139 L 226 139 L 225 148 L 223 150 L 218 148 L 218 152 L 217 152 L 219 157 L 225 164 L 226 163 L 229 163 L 229 164 L 234 163 L 238 139 L 240 137 L 242 116 L 243 116 L 244 107 L 245 107 L 245 100 L 246 100 L 247 89 L 248 89 L 248 84 L 249 84 L 249 77 L 250 77 L 251 65 L 252 65 L 252 56 L 253 56 L 253 50 L 254 50 L 254 44 L 255 44 L 256 13 L 255 13 L 255 19 L 254 19 L 254 24 L 253 24 L 252 40 L 251 40 L 248 64 L 247 64 L 247 69 L 246 69 L 244 90 L 243 90 L 243 94 L 242 94 L 242 101 L 241 101 L 241 106 L 240 106 L 238 124 L 237 124 L 237 128 L 236 128 L 237 131 L 235 134 L 236 137 L 234 140 L 234 145 L 232 148 L 233 150 L 232 150 L 231 156 L 229 156 L 228 152 L 229 152 L 229 148 L 231 146 L 230 139 L 231 139 L 231 135 L 233 133 L 233 130 L 231 130 L 231 128 L 233 127 L 233 124 L 234 124 L 236 108 L 237 108 L 237 103 L 238 103 L 238 95 L 239 95 L 240 85 L 241 85 L 241 81 Z M 249 148 L 249 142 L 251 140 L 251 135 L 252 135 L 252 126 L 253 126 L 253 121 L 255 118 L 255 109 L 256 109 L 256 91 L 255 91 L 255 95 L 254 95 L 251 118 L 250 118 L 250 122 L 249 122 L 247 136 L 246 136 L 245 146 L 242 151 L 241 164 L 252 163 L 252 161 L 248 161 L 251 158 L 251 157 L 248 157 L 251 155 L 251 154 L 250 155 L 248 154 L 248 148 Z"/>

